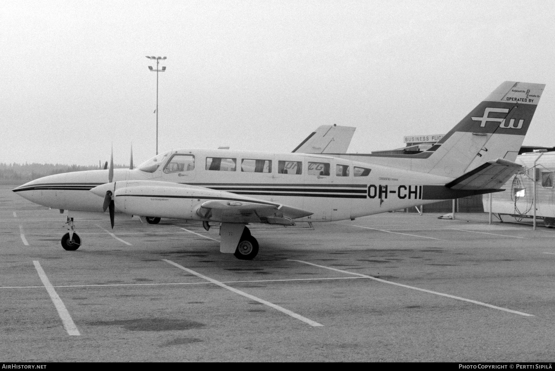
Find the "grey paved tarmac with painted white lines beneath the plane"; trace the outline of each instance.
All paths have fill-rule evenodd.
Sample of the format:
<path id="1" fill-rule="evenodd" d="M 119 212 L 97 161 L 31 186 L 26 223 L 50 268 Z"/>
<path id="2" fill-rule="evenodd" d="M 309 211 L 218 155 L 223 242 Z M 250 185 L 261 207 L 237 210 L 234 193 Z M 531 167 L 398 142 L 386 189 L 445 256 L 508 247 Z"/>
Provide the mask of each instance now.
<path id="1" fill-rule="evenodd" d="M 554 229 L 399 212 L 253 226 L 259 255 L 240 261 L 219 252 L 218 228 L 111 230 L 107 216 L 77 220 L 83 245 L 65 251 L 65 216 L 11 188 L 4 362 L 555 359 Z"/>

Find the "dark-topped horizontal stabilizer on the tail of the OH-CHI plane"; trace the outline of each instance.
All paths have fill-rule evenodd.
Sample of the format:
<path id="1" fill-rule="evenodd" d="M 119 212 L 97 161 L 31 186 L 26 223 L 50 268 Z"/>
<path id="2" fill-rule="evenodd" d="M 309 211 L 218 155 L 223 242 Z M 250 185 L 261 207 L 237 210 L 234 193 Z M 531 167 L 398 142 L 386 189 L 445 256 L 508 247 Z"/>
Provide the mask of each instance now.
<path id="1" fill-rule="evenodd" d="M 499 189 L 520 169 L 522 165 L 513 161 L 490 160 L 445 186 L 453 190 Z"/>

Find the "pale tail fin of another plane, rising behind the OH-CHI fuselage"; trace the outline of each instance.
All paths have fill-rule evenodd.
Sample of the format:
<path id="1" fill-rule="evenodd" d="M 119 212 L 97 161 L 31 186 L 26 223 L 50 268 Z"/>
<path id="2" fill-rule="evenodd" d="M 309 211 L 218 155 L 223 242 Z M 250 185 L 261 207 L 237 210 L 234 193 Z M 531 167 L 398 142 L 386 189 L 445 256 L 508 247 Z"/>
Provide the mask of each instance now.
<path id="1" fill-rule="evenodd" d="M 350 126 L 321 125 L 292 152 L 346 153 L 355 129 Z"/>

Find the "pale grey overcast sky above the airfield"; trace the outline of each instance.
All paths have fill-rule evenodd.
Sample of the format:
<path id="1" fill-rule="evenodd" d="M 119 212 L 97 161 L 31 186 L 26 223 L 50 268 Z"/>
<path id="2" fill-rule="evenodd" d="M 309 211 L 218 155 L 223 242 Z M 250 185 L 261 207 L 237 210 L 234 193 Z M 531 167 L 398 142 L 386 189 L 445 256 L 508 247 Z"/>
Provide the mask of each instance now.
<path id="1" fill-rule="evenodd" d="M 524 144 L 555 146 L 552 1 L 2 1 L 0 162 L 159 151 L 352 152 L 445 134 L 505 80 L 547 84 Z"/>

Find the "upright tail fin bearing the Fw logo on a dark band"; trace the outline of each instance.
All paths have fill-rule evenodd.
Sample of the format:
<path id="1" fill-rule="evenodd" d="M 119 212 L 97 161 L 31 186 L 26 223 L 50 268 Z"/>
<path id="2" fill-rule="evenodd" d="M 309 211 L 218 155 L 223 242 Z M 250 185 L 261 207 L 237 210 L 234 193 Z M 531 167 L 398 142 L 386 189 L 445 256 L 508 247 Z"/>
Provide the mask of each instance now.
<path id="1" fill-rule="evenodd" d="M 341 157 L 455 178 L 488 161 L 514 161 L 544 87 L 544 84 L 502 83 L 455 128 L 422 153 Z"/>

